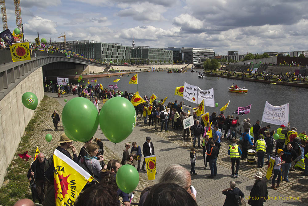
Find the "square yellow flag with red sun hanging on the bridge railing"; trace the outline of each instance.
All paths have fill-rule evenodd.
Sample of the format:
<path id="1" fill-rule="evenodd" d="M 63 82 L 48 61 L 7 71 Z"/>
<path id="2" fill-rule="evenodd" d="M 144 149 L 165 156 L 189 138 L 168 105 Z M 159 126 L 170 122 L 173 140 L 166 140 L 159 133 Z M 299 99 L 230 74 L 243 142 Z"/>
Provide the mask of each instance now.
<path id="1" fill-rule="evenodd" d="M 10 52 L 13 62 L 31 60 L 29 42 L 10 45 Z"/>

